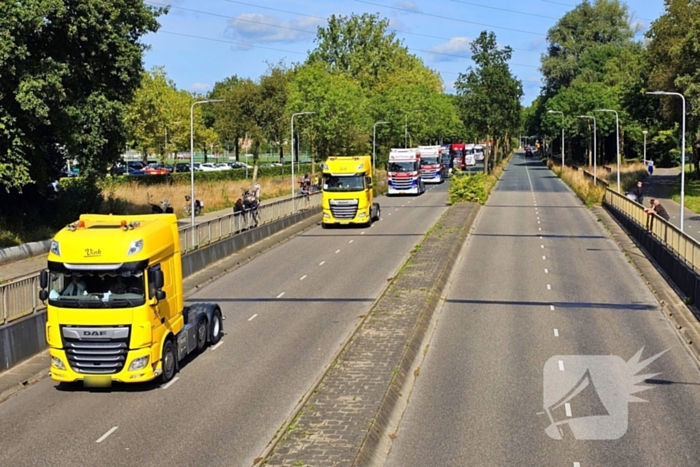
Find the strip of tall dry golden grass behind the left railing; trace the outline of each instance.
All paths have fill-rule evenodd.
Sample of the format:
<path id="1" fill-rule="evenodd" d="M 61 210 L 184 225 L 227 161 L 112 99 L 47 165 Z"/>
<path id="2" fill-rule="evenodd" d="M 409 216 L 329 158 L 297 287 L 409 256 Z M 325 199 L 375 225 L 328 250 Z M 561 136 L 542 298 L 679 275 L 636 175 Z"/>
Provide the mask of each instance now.
<path id="1" fill-rule="evenodd" d="M 262 199 L 276 198 L 291 193 L 289 177 L 261 178 L 260 194 Z M 204 212 L 230 208 L 250 188 L 250 180 L 201 182 L 195 184 L 195 197 L 204 202 Z M 151 204 L 160 205 L 168 199 L 175 213 L 180 216 L 185 206 L 185 196 L 190 194 L 189 183 L 139 186 L 120 185 L 106 190 L 105 202 L 101 211 L 105 214 L 146 214 L 151 212 Z"/>

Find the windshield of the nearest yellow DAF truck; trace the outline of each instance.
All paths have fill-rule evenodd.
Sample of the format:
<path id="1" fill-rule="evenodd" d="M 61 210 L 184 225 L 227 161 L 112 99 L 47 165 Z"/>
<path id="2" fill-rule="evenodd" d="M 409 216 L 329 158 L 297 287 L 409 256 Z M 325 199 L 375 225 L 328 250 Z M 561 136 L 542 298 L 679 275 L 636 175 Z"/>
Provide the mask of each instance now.
<path id="1" fill-rule="evenodd" d="M 61 308 L 128 308 L 146 303 L 139 272 L 49 272 L 49 304 Z"/>

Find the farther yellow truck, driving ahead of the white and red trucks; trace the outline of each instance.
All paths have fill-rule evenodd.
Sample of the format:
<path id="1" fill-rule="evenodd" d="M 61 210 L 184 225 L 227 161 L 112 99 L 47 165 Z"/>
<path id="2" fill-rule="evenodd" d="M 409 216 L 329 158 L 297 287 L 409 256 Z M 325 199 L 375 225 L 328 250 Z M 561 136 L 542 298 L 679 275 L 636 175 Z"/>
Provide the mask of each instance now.
<path id="1" fill-rule="evenodd" d="M 323 170 L 323 220 L 321 226 L 364 224 L 379 220 L 381 208 L 374 202 L 372 159 L 369 156 L 329 157 Z"/>

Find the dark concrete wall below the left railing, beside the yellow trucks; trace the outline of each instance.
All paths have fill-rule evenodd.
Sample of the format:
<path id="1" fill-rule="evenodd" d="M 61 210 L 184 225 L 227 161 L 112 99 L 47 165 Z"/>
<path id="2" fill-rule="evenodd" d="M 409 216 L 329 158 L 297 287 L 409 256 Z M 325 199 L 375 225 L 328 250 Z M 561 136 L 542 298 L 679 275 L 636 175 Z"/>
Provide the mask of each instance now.
<path id="1" fill-rule="evenodd" d="M 300 211 L 187 253 L 182 257 L 182 274 L 184 277 L 195 274 L 236 251 L 281 232 L 320 212 L 320 206 Z M 46 349 L 45 324 L 46 311 L 41 311 L 12 321 L 5 326 L 0 326 L 0 372 L 8 370 Z"/>

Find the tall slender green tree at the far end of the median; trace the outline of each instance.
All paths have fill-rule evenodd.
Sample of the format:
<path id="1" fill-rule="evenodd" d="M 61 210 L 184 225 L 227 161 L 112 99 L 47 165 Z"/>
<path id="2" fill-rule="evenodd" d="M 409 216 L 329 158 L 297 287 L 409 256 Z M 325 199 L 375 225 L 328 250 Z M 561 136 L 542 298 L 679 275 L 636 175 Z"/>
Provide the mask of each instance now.
<path id="1" fill-rule="evenodd" d="M 471 44 L 475 67 L 460 73 L 455 83 L 461 100 L 462 120 L 472 126 L 479 137 L 494 142 L 493 154 L 499 145 L 520 127 L 523 95 L 522 83 L 515 79 L 508 66 L 511 48 L 499 47 L 493 32 L 483 31 Z M 485 155 L 488 170 L 490 154 Z"/>

